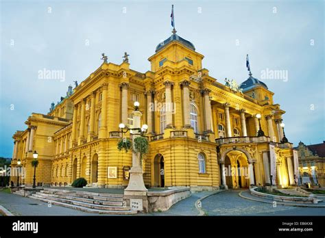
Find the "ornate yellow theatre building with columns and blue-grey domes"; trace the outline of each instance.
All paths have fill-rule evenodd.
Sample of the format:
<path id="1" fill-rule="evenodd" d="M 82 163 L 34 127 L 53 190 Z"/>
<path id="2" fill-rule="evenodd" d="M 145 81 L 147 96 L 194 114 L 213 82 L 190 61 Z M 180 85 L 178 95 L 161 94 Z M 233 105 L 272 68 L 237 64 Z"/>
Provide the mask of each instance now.
<path id="1" fill-rule="evenodd" d="M 274 103 L 274 93 L 251 73 L 241 85 L 220 82 L 203 68 L 203 58 L 176 31 L 158 44 L 147 72 L 133 70 L 126 53 L 121 64 L 104 56 L 49 113 L 33 113 L 25 131 L 14 133 L 12 167 L 21 161 L 21 182 L 33 183 L 36 150 L 38 186 L 62 187 L 84 177 L 87 186 L 127 187 L 132 152 L 117 149 L 124 136 L 119 124 L 132 127 L 139 101 L 141 124 L 148 125 L 147 187 L 295 185 L 298 157 L 291 143 L 281 143 L 285 111 Z M 264 135 L 257 136 L 260 129 Z M 116 169 L 115 177 L 109 168 Z"/>

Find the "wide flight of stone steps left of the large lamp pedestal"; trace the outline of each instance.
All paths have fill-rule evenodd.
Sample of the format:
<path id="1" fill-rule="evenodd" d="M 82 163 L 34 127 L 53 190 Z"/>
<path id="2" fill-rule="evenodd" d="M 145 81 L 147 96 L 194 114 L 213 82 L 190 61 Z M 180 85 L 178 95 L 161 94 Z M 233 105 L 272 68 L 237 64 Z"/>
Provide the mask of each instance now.
<path id="1" fill-rule="evenodd" d="M 123 194 L 45 188 L 32 194 L 29 198 L 91 213 L 123 215 L 137 213 L 137 211 L 130 211 L 130 207 L 123 206 Z"/>

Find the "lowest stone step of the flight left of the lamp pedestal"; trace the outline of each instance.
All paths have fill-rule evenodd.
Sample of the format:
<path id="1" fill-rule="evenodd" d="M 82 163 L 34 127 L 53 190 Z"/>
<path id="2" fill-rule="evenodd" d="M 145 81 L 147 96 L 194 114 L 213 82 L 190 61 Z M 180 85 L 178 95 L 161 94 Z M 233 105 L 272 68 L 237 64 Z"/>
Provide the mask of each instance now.
<path id="1" fill-rule="evenodd" d="M 99 209 L 89 209 L 87 207 L 80 207 L 80 206 L 77 206 L 77 205 L 74 205 L 74 204 L 69 204 L 69 203 L 65 203 L 65 202 L 58 202 L 58 201 L 55 201 L 55 200 L 49 200 L 49 199 L 46 199 L 46 198 L 36 198 L 35 196 L 29 196 L 29 198 L 34 198 L 36 200 L 40 200 L 40 201 L 43 201 L 43 202 L 51 202 L 51 204 L 54 204 L 54 205 L 58 205 L 58 206 L 61 206 L 61 207 L 68 207 L 68 208 L 71 208 L 71 209 L 76 209 L 76 210 L 79 210 L 79 211 L 85 211 L 85 212 L 88 212 L 88 213 L 99 213 L 99 214 L 108 214 L 108 215 L 134 215 L 137 213 L 137 211 L 108 211 L 108 210 L 99 210 Z"/>

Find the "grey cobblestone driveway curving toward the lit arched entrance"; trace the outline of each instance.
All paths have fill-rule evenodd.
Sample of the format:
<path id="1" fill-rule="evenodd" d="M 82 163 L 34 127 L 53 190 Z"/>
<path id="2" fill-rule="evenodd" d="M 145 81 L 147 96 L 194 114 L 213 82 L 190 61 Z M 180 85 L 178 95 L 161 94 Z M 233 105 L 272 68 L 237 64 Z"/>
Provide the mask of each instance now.
<path id="1" fill-rule="evenodd" d="M 243 190 L 224 191 L 202 200 L 206 215 L 325 215 L 325 208 L 289 207 L 255 202 L 238 196 Z"/>

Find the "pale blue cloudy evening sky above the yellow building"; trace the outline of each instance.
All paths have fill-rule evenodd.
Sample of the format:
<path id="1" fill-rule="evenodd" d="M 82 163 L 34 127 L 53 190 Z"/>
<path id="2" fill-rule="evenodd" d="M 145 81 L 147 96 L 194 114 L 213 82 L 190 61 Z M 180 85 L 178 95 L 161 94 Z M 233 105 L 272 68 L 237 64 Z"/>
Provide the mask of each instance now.
<path id="1" fill-rule="evenodd" d="M 1 1 L 0 156 L 12 157 L 12 135 L 32 112 L 47 114 L 69 84 L 86 79 L 101 53 L 120 64 L 150 69 L 147 58 L 171 35 L 205 57 L 203 67 L 224 83 L 262 70 L 286 70 L 288 80 L 263 79 L 287 111 L 285 133 L 295 145 L 324 136 L 324 1 Z M 65 80 L 38 79 L 64 70 Z"/>

